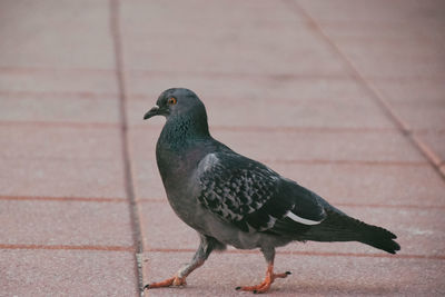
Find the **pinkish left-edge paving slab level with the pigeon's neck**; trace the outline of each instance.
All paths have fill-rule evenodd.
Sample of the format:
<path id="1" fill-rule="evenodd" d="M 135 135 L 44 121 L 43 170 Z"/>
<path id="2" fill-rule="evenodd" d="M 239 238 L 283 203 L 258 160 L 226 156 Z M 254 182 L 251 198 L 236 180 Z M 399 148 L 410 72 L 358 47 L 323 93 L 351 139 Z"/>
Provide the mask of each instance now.
<path id="1" fill-rule="evenodd" d="M 65 127 L 57 123 L 2 125 L 0 158 L 7 159 L 108 159 L 122 158 L 117 127 Z M 49 141 L 50 140 L 50 141 Z"/>

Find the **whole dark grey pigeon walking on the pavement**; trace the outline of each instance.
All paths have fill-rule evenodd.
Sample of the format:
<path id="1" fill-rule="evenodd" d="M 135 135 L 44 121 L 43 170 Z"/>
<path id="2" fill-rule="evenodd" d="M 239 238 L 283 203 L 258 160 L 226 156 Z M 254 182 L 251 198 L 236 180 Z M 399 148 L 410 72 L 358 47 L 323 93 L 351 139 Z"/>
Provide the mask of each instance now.
<path id="1" fill-rule="evenodd" d="M 190 263 L 144 289 L 185 286 L 187 276 L 211 251 L 227 246 L 263 253 L 264 280 L 236 287 L 255 294 L 290 275 L 274 273 L 274 259 L 276 248 L 291 241 L 358 241 L 389 254 L 400 249 L 393 232 L 349 217 L 314 191 L 212 138 L 206 108 L 194 91 L 162 91 L 144 119 L 154 116 L 166 117 L 156 160 L 168 201 L 198 232 L 200 242 Z"/>

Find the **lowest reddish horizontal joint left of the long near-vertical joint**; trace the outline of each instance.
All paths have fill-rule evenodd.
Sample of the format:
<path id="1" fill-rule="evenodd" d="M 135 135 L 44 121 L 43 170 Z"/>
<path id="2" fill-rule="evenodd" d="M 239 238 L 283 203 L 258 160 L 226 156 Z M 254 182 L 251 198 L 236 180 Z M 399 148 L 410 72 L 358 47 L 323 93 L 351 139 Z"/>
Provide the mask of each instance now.
<path id="1" fill-rule="evenodd" d="M 131 246 L 95 246 L 95 245 L 22 245 L 0 244 L 0 249 L 59 249 L 59 250 L 102 250 L 102 251 L 135 251 Z"/>

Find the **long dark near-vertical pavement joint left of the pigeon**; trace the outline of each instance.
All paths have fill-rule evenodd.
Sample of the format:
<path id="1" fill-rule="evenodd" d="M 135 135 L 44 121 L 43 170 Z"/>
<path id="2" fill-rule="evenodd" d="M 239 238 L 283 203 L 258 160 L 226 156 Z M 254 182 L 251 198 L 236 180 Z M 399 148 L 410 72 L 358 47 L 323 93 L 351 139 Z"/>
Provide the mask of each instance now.
<path id="1" fill-rule="evenodd" d="M 128 118 L 127 118 L 127 89 L 125 81 L 125 63 L 123 63 L 123 44 L 121 39 L 120 28 L 120 6 L 119 0 L 109 0 L 109 28 L 112 37 L 112 44 L 115 51 L 116 62 L 116 79 L 119 91 L 119 106 L 120 106 L 120 121 L 121 121 L 121 141 L 122 141 L 122 161 L 127 197 L 129 199 L 129 210 L 132 227 L 132 237 L 135 241 L 135 273 L 137 277 L 136 286 L 140 296 L 144 296 L 144 273 L 141 257 L 139 256 L 144 250 L 144 240 L 140 225 L 140 212 L 135 195 L 135 184 L 131 168 L 130 157 L 130 139 L 128 136 Z"/>

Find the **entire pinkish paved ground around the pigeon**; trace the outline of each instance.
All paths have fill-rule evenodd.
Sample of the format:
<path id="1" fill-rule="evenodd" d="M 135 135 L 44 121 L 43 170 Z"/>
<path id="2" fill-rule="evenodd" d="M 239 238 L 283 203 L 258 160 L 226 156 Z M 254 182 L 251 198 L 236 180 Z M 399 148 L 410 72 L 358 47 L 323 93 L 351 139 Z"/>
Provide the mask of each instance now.
<path id="1" fill-rule="evenodd" d="M 0 2 L 0 296 L 138 296 L 197 247 L 155 162 L 157 96 L 188 87 L 235 150 L 395 231 L 397 256 L 293 244 L 277 296 L 445 295 L 442 0 Z M 239 296 L 256 251 L 187 288 Z"/>

